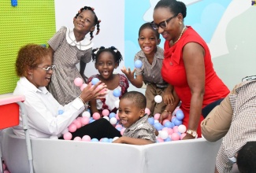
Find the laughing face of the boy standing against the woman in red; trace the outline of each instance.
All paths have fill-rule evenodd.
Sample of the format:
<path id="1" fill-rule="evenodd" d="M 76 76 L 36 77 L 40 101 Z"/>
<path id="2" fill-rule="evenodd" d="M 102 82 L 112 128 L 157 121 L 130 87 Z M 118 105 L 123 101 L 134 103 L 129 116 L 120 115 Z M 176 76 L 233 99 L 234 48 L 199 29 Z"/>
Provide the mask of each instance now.
<path id="1" fill-rule="evenodd" d="M 139 46 L 140 49 L 143 50 L 145 55 L 153 55 L 156 52 L 157 45 L 160 43 L 160 39 L 157 38 L 155 32 L 150 28 L 144 28 L 139 33 Z"/>

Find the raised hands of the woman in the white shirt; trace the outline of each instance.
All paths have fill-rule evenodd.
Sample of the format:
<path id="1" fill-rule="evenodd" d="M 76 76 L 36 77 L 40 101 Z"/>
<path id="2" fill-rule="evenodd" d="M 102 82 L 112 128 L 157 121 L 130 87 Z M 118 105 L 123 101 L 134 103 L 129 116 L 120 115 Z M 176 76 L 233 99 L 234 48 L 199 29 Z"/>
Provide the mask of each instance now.
<path id="1" fill-rule="evenodd" d="M 105 98 L 107 91 L 105 90 L 106 84 L 99 81 L 96 85 L 92 86 L 91 83 L 83 89 L 83 92 L 80 95 L 80 98 L 83 99 L 84 102 L 91 101 L 93 99 Z"/>

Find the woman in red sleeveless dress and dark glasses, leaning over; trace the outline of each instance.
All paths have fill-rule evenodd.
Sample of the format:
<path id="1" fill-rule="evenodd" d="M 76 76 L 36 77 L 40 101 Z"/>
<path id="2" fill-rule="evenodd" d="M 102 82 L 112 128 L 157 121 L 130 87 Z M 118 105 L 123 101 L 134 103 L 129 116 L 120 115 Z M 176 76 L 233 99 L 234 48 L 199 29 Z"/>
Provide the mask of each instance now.
<path id="1" fill-rule="evenodd" d="M 229 90 L 213 69 L 206 42 L 193 28 L 184 25 L 186 11 L 184 2 L 161 0 L 154 7 L 151 25 L 165 39 L 161 75 L 173 85 L 176 97 L 175 103 L 166 107 L 169 113 L 163 112 L 160 121 L 170 120 L 181 101 L 187 127 L 184 139 L 190 139 L 201 137 L 199 124 L 203 116 L 219 104 Z"/>

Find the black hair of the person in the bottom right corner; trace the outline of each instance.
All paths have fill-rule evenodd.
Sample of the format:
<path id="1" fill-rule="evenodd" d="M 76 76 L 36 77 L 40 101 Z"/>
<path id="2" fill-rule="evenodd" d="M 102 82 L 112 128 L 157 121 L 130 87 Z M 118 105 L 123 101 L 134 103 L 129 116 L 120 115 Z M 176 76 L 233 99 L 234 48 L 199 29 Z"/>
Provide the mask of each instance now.
<path id="1" fill-rule="evenodd" d="M 236 164 L 241 173 L 256 172 L 256 142 L 247 142 L 239 149 Z"/>

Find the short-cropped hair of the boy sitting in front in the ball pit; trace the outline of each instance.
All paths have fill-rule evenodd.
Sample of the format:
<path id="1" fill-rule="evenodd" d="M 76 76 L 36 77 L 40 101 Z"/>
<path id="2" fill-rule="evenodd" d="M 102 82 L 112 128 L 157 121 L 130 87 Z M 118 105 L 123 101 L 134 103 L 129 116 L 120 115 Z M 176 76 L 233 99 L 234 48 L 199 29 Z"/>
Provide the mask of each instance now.
<path id="1" fill-rule="evenodd" d="M 147 100 L 146 97 L 138 92 L 138 91 L 129 91 L 125 93 L 121 99 L 128 99 L 133 101 L 133 103 L 139 108 L 139 109 L 146 109 Z"/>

